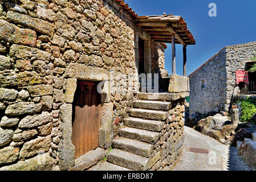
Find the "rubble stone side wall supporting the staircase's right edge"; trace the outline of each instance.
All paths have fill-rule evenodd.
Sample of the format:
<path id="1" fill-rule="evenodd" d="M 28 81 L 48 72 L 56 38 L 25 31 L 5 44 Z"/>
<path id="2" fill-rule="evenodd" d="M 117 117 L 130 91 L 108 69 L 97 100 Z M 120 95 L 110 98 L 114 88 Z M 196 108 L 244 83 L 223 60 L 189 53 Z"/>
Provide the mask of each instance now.
<path id="1" fill-rule="evenodd" d="M 184 149 L 184 99 L 172 101 L 172 108 L 168 111 L 168 119 L 161 130 L 160 139 L 154 146 L 149 170 L 168 171 L 175 167 Z"/>

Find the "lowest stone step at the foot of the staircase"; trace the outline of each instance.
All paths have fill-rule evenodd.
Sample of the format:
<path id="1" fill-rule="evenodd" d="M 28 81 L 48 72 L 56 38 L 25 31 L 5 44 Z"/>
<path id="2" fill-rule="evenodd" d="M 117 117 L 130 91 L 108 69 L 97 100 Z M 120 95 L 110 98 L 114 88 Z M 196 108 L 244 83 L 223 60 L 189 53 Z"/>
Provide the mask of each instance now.
<path id="1" fill-rule="evenodd" d="M 146 171 L 149 159 L 120 149 L 113 149 L 107 157 L 108 162 L 122 166 L 133 171 Z"/>

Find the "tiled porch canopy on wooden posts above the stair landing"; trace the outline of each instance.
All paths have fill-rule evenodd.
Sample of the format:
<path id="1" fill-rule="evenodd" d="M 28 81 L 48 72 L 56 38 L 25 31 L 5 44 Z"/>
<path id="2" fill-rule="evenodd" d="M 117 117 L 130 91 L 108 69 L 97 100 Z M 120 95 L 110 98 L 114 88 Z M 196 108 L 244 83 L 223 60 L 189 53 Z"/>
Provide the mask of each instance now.
<path id="1" fill-rule="evenodd" d="M 176 74 L 175 44 L 182 44 L 184 55 L 183 75 L 186 76 L 186 46 L 196 44 L 196 40 L 188 30 L 181 16 L 137 16 L 136 24 L 147 31 L 155 42 L 172 43 L 172 73 Z"/>

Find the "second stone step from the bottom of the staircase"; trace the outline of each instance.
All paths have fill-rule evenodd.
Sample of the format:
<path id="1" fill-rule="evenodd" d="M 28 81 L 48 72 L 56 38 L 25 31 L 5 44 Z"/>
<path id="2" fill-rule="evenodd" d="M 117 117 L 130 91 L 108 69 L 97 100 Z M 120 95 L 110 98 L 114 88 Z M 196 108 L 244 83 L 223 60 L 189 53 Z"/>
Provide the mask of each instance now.
<path id="1" fill-rule="evenodd" d="M 113 140 L 113 148 L 120 148 L 121 150 L 131 152 L 149 158 L 154 149 L 153 144 L 140 142 L 138 140 L 119 137 Z"/>

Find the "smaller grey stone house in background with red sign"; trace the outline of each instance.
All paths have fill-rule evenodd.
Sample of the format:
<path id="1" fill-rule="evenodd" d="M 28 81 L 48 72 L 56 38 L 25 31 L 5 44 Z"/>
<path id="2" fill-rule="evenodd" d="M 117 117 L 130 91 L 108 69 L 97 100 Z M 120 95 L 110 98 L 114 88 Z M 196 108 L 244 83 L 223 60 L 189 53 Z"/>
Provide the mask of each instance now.
<path id="1" fill-rule="evenodd" d="M 229 112 L 233 98 L 256 91 L 256 75 L 249 73 L 249 84 L 239 82 L 236 71 L 248 71 L 255 61 L 256 42 L 226 46 L 189 75 L 189 112 L 207 114 Z M 255 86 L 254 86 L 255 85 Z M 246 88 L 246 92 L 243 90 Z"/>

